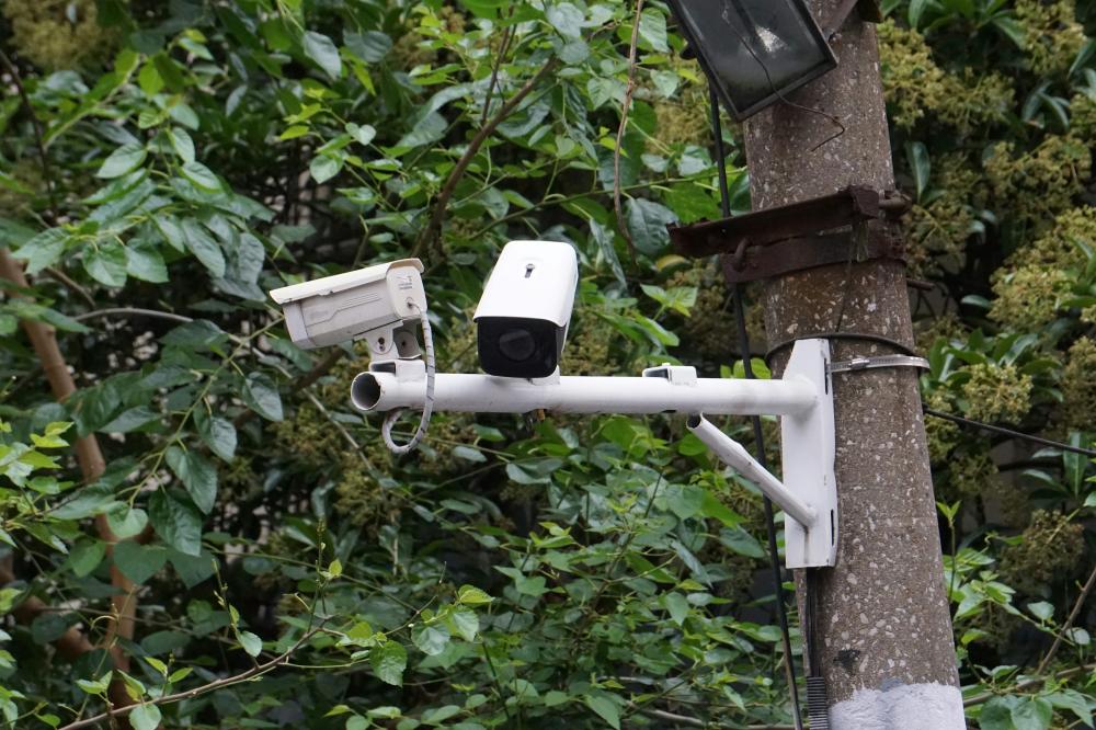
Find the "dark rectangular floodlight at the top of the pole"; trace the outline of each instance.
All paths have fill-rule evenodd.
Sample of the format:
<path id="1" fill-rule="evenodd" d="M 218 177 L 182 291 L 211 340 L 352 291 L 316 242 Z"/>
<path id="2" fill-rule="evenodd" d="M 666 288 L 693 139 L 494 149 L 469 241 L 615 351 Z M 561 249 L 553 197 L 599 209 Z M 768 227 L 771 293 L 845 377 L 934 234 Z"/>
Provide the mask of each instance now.
<path id="1" fill-rule="evenodd" d="M 837 66 L 804 0 L 670 0 L 670 5 L 739 121 Z"/>

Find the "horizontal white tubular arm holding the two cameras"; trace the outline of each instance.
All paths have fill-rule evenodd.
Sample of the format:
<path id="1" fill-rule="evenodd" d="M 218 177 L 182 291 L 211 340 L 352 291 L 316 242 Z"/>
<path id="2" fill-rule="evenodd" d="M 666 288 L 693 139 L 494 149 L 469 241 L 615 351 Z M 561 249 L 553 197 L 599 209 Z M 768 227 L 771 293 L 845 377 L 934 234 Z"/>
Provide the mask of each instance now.
<path id="1" fill-rule="evenodd" d="M 676 377 L 662 376 L 664 369 Z M 363 411 L 422 409 L 426 398 L 421 363 L 374 363 L 354 378 L 351 398 Z M 682 370 L 692 377 L 682 377 Z M 652 368 L 635 377 L 560 377 L 546 381 L 491 375 L 438 373 L 434 410 L 463 413 L 706 413 L 751 415 L 806 413 L 819 399 L 807 379 L 697 378 L 693 368 Z"/>

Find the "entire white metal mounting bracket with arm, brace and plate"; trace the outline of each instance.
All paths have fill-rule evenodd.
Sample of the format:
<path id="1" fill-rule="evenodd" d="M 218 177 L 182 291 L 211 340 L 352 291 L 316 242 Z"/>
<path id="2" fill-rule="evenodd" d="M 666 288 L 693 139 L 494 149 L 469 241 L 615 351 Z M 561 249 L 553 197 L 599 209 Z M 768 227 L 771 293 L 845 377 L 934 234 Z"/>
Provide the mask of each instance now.
<path id="1" fill-rule="evenodd" d="M 790 517 L 785 525 L 788 568 L 833 566 L 837 554 L 837 490 L 833 474 L 833 390 L 830 345 L 801 340 L 779 380 L 698 378 L 696 369 L 664 365 L 643 377 L 553 377 L 529 381 L 490 375 L 438 373 L 434 410 L 465 413 L 682 413 L 779 415 L 784 481 L 713 425 L 697 433 L 716 455 L 756 483 Z M 359 410 L 422 409 L 421 361 L 372 363 L 351 386 Z M 707 424 L 704 426 L 703 424 Z M 690 424 L 692 427 L 692 424 Z M 698 431 L 699 430 L 699 431 Z M 743 458 L 744 457 L 744 458 Z"/>

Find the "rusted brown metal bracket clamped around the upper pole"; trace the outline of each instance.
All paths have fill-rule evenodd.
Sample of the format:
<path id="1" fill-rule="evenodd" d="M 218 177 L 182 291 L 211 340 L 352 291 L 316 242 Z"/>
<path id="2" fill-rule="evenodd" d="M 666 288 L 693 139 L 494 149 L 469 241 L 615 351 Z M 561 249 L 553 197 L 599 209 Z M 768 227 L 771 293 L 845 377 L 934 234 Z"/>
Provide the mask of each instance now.
<path id="1" fill-rule="evenodd" d="M 678 253 L 722 253 L 728 282 L 740 283 L 846 261 L 904 260 L 893 220 L 907 208 L 897 194 L 849 187 L 735 218 L 667 228 Z"/>

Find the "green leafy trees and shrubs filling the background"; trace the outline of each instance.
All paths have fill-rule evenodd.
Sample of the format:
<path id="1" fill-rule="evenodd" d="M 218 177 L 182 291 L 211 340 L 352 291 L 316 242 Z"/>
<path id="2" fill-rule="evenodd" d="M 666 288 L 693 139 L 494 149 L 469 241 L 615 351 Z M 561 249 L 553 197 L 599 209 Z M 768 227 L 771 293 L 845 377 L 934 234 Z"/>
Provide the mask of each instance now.
<path id="1" fill-rule="evenodd" d="M 1091 446 L 1096 12 L 883 4 L 926 403 Z M 741 372 L 713 262 L 666 246 L 719 212 L 662 3 L 0 7 L 10 726 L 790 721 L 760 498 L 681 423 L 441 415 L 393 459 L 363 351 L 297 350 L 265 297 L 420 255 L 475 369 L 499 248 L 566 240 L 566 372 Z M 928 427 L 972 725 L 1092 727 L 1092 461 Z"/>

